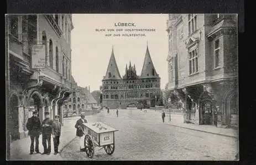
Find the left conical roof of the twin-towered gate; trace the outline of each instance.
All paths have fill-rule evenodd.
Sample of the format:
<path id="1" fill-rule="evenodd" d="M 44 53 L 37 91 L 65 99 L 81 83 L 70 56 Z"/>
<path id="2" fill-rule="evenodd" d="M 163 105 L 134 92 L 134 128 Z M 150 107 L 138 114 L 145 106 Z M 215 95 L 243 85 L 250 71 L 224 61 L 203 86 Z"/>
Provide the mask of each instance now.
<path id="1" fill-rule="evenodd" d="M 119 73 L 116 58 L 114 58 L 114 49 L 112 47 L 111 57 L 108 62 L 108 68 L 104 80 L 118 80 L 122 79 Z"/>

